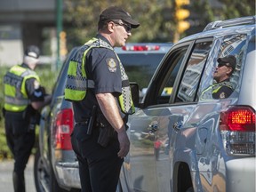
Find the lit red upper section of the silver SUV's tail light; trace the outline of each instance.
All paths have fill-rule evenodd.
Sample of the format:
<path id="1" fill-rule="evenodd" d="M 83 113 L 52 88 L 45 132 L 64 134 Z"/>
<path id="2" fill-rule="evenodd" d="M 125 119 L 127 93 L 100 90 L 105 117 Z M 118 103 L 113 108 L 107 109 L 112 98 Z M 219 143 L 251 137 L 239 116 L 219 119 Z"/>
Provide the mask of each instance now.
<path id="1" fill-rule="evenodd" d="M 255 111 L 250 107 L 233 107 L 220 116 L 220 130 L 255 132 Z"/>

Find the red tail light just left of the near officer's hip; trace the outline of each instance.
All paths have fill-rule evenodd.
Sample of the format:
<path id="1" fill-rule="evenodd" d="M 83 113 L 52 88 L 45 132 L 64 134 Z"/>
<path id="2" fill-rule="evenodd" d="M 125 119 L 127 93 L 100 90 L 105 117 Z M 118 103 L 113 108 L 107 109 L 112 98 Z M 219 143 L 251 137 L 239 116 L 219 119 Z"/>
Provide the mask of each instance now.
<path id="1" fill-rule="evenodd" d="M 74 128 L 73 110 L 65 108 L 60 111 L 56 118 L 55 148 L 71 150 L 70 134 Z"/>

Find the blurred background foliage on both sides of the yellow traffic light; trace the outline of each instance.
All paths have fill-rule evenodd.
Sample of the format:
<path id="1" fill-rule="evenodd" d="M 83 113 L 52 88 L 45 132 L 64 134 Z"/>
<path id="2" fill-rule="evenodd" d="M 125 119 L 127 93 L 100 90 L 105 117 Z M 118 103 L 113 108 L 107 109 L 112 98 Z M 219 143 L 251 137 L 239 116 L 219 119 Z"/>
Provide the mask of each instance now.
<path id="1" fill-rule="evenodd" d="M 95 36 L 99 14 L 110 5 L 122 6 L 131 13 L 133 19 L 140 21 L 140 28 L 132 30 L 129 42 L 172 42 L 176 28 L 174 2 L 175 0 L 65 0 L 63 17 L 64 30 L 68 34 L 68 50 Z M 180 38 L 202 31 L 212 20 L 254 15 L 255 2 L 190 0 L 188 10 L 190 28 Z"/>

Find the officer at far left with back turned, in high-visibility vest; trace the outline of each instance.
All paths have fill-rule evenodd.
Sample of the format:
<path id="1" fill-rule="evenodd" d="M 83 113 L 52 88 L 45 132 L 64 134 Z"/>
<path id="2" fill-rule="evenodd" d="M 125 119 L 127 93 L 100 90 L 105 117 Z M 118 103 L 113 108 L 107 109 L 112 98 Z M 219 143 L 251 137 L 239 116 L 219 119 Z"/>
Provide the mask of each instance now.
<path id="1" fill-rule="evenodd" d="M 38 110 L 52 100 L 45 95 L 34 68 L 39 49 L 30 45 L 23 63 L 13 66 L 4 76 L 4 117 L 7 145 L 14 156 L 12 180 L 14 191 L 25 191 L 24 170 L 35 143 Z"/>

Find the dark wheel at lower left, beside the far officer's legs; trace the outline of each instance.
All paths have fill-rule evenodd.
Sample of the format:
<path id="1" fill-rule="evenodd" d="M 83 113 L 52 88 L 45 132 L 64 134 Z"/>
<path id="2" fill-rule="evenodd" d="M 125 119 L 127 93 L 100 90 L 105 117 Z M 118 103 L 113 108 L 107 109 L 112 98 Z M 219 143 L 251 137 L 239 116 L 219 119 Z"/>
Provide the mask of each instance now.
<path id="1" fill-rule="evenodd" d="M 35 164 L 34 164 L 34 179 L 37 192 L 50 191 L 50 175 L 47 172 L 47 167 L 40 156 L 40 151 L 36 151 Z"/>

